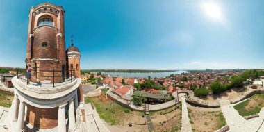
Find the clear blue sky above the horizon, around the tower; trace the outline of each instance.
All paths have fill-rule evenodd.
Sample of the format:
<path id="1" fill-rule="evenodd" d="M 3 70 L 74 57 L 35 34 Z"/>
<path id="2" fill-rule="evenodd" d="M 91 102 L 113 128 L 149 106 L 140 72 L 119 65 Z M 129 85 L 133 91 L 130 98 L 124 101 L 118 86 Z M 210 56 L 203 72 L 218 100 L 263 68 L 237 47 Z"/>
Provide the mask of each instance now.
<path id="1" fill-rule="evenodd" d="M 31 6 L 0 4 L 0 66 L 24 67 Z M 53 1 L 66 10 L 81 69 L 264 68 L 264 1 Z M 217 5 L 212 17 L 204 4 Z"/>

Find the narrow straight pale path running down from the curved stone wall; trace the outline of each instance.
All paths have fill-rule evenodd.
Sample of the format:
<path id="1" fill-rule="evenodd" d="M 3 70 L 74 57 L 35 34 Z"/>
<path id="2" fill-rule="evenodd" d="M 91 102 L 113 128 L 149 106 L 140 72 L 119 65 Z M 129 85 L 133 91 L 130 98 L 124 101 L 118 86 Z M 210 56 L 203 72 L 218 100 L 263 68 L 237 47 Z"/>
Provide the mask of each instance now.
<path id="1" fill-rule="evenodd" d="M 179 95 L 180 97 L 180 95 Z M 186 105 L 186 101 L 185 101 L 185 96 L 181 96 L 181 104 L 182 104 L 182 118 L 181 118 L 181 131 L 182 132 L 189 132 L 192 131 L 192 126 L 190 124 L 190 119 L 188 117 L 188 109 L 187 109 L 187 105 Z"/>

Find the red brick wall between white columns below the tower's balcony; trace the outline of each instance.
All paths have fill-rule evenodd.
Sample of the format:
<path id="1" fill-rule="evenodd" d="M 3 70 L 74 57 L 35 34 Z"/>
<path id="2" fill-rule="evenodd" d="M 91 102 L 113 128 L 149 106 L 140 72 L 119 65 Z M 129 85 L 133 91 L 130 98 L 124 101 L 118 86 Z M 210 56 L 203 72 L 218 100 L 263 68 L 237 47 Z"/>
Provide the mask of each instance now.
<path id="1" fill-rule="evenodd" d="M 35 128 L 53 129 L 58 126 L 58 107 L 36 108 L 29 104 L 27 106 L 26 121 Z"/>

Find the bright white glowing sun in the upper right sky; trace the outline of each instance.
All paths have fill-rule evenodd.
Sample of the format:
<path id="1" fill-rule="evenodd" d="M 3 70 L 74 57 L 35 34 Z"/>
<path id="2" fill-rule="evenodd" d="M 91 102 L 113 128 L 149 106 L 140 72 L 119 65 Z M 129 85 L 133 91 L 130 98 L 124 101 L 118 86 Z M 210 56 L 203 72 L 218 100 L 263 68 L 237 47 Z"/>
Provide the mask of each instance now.
<path id="1" fill-rule="evenodd" d="M 220 6 L 216 3 L 204 3 L 203 4 L 204 11 L 208 17 L 212 19 L 222 19 L 222 13 L 220 10 Z"/>

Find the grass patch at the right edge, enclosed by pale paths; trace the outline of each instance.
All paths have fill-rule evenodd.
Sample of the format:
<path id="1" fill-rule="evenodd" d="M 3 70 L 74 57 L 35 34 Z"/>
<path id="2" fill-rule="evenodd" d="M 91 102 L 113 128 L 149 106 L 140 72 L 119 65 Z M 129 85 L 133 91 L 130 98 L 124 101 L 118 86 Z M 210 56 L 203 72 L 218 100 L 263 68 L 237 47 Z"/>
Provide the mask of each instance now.
<path id="1" fill-rule="evenodd" d="M 261 108 L 264 107 L 263 102 L 264 94 L 255 94 L 247 101 L 243 101 L 242 103 L 233 106 L 233 108 L 238 110 L 239 115 L 245 117 L 248 115 L 258 114 L 261 111 Z"/>

